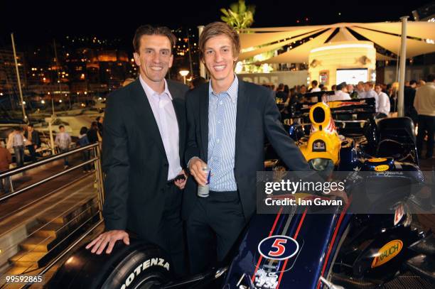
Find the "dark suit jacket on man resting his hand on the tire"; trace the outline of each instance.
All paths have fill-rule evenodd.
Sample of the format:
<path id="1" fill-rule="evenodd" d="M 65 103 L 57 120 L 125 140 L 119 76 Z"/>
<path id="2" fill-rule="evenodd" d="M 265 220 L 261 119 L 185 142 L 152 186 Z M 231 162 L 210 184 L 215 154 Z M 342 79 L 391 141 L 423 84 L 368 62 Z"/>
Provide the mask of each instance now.
<path id="1" fill-rule="evenodd" d="M 186 146 L 188 87 L 167 80 L 173 97 L 180 143 L 181 166 Z M 107 230 L 128 229 L 152 239 L 163 212 L 163 187 L 168 178 L 168 160 L 151 105 L 139 79 L 109 95 L 104 115 L 102 167 Z"/>

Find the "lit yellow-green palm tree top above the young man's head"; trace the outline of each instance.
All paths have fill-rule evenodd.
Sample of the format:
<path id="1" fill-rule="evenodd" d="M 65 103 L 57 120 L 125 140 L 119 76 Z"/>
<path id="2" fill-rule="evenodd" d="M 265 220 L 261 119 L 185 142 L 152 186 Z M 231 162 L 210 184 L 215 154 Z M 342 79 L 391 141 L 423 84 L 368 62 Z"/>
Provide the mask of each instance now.
<path id="1" fill-rule="evenodd" d="M 254 23 L 255 6 L 246 6 L 245 0 L 230 4 L 230 9 L 220 9 L 224 14 L 220 19 L 237 30 L 248 28 Z"/>

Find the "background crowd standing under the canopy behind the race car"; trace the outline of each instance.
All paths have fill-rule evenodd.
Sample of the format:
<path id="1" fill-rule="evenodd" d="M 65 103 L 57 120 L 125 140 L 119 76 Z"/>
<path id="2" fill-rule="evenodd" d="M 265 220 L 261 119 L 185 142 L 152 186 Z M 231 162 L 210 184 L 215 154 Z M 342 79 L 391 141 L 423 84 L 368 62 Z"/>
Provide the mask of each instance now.
<path id="1" fill-rule="evenodd" d="M 311 82 L 308 87 L 305 84 L 289 87 L 280 83 L 277 87 L 274 84 L 263 84 L 275 91 L 276 104 L 284 104 L 281 112 L 288 112 L 288 107 L 302 102 L 318 102 L 317 97 L 313 97 L 308 92 L 330 91 L 328 87 L 319 84 L 316 80 Z M 332 95 L 325 95 L 321 99 L 324 102 L 350 99 L 375 99 L 376 119 L 397 116 L 397 97 L 399 93 L 399 83 L 393 84 L 358 82 L 348 84 L 342 82 L 332 85 Z M 434 128 L 435 128 L 435 85 L 434 75 L 428 75 L 426 80 L 411 80 L 404 84 L 404 116 L 408 116 L 418 125 L 417 151 L 421 156 L 421 148 L 424 140 L 427 141 L 426 156 L 432 158 L 434 151 Z"/>

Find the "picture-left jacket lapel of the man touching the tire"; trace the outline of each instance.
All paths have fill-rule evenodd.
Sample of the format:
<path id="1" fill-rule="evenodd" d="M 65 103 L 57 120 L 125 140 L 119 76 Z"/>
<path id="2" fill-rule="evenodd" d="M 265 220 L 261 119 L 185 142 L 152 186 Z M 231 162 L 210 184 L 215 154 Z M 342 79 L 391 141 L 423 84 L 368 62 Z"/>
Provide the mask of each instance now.
<path id="1" fill-rule="evenodd" d="M 151 137 L 154 138 L 156 145 L 166 158 L 166 151 L 165 147 L 163 146 L 163 141 L 161 140 L 159 126 L 157 126 L 153 110 L 151 109 L 151 104 L 149 104 L 148 98 L 146 97 L 144 88 L 142 87 L 139 78 L 135 80 L 133 89 L 135 98 L 133 108 L 136 111 L 136 116 L 138 119 L 137 124 L 145 131 L 149 131 L 146 133 L 146 135 L 151 135 Z"/>

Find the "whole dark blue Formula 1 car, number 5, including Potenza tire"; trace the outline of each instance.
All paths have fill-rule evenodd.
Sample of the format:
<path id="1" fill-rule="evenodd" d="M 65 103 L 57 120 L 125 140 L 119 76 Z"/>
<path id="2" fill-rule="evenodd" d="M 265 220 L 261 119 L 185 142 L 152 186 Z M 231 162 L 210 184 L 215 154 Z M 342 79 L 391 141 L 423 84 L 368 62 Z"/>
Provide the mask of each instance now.
<path id="1" fill-rule="evenodd" d="M 173 280 L 159 246 L 132 240 L 110 255 L 82 247 L 48 288 L 434 288 L 434 234 L 414 226 L 406 202 L 416 190 L 404 190 L 424 182 L 412 121 L 366 119 L 371 99 L 303 106 L 287 129 L 313 170 L 345 175 L 345 200 L 304 192 L 272 197 L 343 202 L 254 215 L 227 262 L 197 276 Z M 270 173 L 279 166 L 266 163 Z"/>

